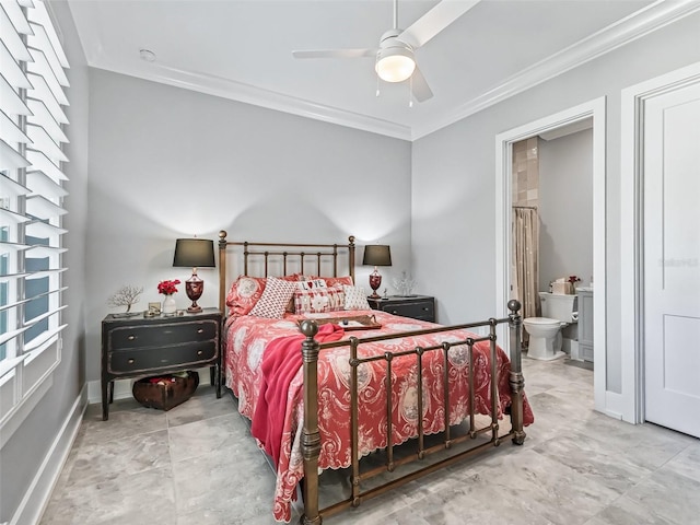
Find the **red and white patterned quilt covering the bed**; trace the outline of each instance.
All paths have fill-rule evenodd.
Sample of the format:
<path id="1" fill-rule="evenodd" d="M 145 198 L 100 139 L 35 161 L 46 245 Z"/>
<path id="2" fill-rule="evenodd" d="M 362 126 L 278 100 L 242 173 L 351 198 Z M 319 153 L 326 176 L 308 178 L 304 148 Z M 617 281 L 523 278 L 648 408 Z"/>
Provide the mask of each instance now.
<path id="1" fill-rule="evenodd" d="M 382 325 L 378 330 L 350 331 L 351 335 L 370 337 L 383 334 L 395 334 L 434 325 L 421 320 L 397 317 L 380 311 L 335 312 L 323 314 L 324 317 L 347 317 L 362 314 L 374 315 Z M 269 341 L 280 337 L 299 334 L 298 319 L 303 316 L 291 315 L 284 319 L 262 319 L 243 316 L 229 319 L 226 323 L 226 343 L 224 372 L 226 386 L 238 398 L 241 413 L 254 419 L 256 406 L 264 388 L 264 355 Z M 322 327 L 323 328 L 323 327 Z M 476 337 L 471 335 L 472 337 Z M 382 342 L 360 346 L 360 355 L 383 354 L 386 351 L 400 352 L 412 350 L 417 346 L 428 347 L 444 340 L 459 341 L 469 337 L 465 330 L 434 334 L 420 337 L 396 338 Z M 301 347 L 300 347 L 301 348 Z M 296 350 L 300 353 L 301 350 Z M 443 377 L 444 359 L 441 352 L 430 352 L 423 360 L 423 409 L 422 418 L 417 410 L 418 374 L 415 357 L 396 358 L 392 362 L 393 381 L 393 441 L 402 443 L 418 432 L 418 423 L 422 420 L 425 434 L 443 430 L 444 412 Z M 318 430 L 322 448 L 318 458 L 319 468 L 345 468 L 350 465 L 350 365 L 349 348 L 331 348 L 324 350 L 318 360 Z M 478 413 L 490 415 L 490 349 L 488 341 L 477 343 L 474 351 L 475 364 L 475 409 Z M 465 346 L 453 347 L 448 354 L 448 383 L 451 390 L 451 424 L 462 422 L 468 416 L 468 352 Z M 301 454 L 301 428 L 303 423 L 303 376 L 302 370 L 296 372 L 289 384 L 283 413 L 275 417 L 282 421 L 282 439 L 279 450 L 277 487 L 273 515 L 277 521 L 289 522 L 291 518 L 291 501 L 295 495 L 296 485 L 303 477 L 303 458 Z M 498 369 L 498 410 L 511 404 L 509 384 L 510 361 L 499 348 L 497 352 Z M 386 446 L 386 395 L 384 388 L 385 363 L 376 361 L 364 363 L 358 368 L 360 395 L 360 454 L 368 455 Z M 282 402 L 279 404 L 280 406 Z M 268 413 L 269 413 L 268 406 Z M 524 406 L 524 423 L 534 421 L 527 400 Z"/>

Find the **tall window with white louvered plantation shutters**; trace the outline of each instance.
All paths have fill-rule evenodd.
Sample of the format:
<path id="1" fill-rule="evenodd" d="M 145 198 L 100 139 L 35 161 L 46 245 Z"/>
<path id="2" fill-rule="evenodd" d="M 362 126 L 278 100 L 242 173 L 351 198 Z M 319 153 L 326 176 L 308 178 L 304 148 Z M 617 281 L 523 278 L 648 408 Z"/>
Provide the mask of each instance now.
<path id="1" fill-rule="evenodd" d="M 0 427 L 60 361 L 68 60 L 40 0 L 0 2 Z"/>

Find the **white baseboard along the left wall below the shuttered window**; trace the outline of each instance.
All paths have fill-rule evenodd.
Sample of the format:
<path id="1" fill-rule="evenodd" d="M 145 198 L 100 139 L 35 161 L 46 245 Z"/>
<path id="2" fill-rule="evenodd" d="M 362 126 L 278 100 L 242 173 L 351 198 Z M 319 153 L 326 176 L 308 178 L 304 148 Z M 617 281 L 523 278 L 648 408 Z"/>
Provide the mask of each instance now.
<path id="1" fill-rule="evenodd" d="M 9 525 L 39 523 L 73 446 L 86 406 L 88 389 L 83 386 Z"/>

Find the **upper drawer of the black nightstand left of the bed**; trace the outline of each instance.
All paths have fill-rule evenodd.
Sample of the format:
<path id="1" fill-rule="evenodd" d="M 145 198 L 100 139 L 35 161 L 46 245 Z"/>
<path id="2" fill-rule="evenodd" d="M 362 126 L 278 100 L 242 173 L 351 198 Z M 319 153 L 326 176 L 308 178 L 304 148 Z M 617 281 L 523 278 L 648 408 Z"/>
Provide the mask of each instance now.
<path id="1" fill-rule="evenodd" d="M 109 332 L 113 350 L 167 346 L 183 341 L 207 341 L 214 339 L 219 325 L 215 320 L 172 323 L 160 325 L 125 326 Z"/>

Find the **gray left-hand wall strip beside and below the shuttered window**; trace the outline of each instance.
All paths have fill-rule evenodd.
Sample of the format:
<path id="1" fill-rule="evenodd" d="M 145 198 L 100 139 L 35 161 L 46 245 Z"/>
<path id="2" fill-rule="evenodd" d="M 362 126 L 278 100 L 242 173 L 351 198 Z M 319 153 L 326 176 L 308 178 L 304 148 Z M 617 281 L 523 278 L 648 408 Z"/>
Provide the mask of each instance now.
<path id="1" fill-rule="evenodd" d="M 71 68 L 67 71 L 70 89 L 70 107 L 66 109 L 70 126 L 70 159 L 65 172 L 70 178 L 66 199 L 69 213 L 63 224 L 68 229 L 65 254 L 68 271 L 63 283 L 68 290 L 63 298 L 68 304 L 63 322 L 62 359 L 54 372 L 54 384 L 24 423 L 0 451 L 0 522 L 9 521 L 15 513 L 54 440 L 71 412 L 85 381 L 85 202 L 88 200 L 88 100 L 89 75 L 85 58 L 78 40 L 73 20 L 67 2 L 51 2 L 63 34 L 63 46 Z M 36 511 L 36 509 L 30 509 Z"/>

